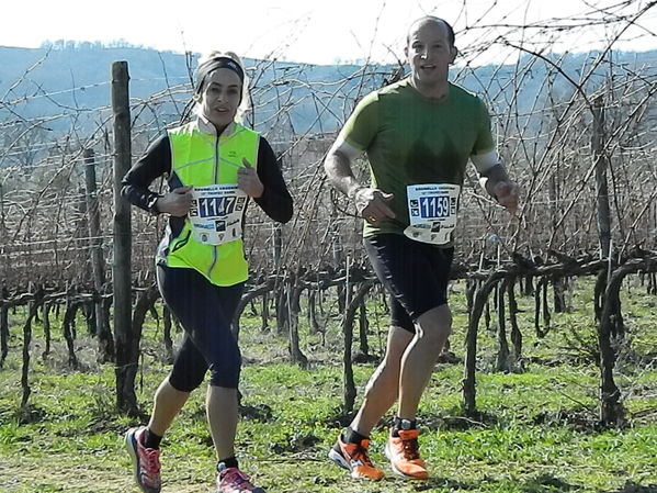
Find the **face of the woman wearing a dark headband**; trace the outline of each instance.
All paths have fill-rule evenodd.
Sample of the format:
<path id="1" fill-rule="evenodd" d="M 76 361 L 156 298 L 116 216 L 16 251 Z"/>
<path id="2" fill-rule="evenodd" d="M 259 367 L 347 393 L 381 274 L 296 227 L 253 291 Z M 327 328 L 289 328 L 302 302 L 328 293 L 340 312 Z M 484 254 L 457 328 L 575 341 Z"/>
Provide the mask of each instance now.
<path id="1" fill-rule="evenodd" d="M 203 82 L 201 109 L 217 130 L 223 131 L 237 113 L 241 96 L 241 80 L 229 68 L 217 68 Z"/>

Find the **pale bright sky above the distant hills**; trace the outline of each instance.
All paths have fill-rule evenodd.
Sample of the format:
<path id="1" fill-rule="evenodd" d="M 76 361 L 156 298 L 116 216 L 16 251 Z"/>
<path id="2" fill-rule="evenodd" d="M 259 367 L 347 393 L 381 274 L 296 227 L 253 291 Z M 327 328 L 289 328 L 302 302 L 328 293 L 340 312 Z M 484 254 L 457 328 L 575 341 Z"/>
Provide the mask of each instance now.
<path id="1" fill-rule="evenodd" d="M 0 46 L 57 40 L 124 41 L 160 51 L 231 49 L 248 58 L 310 64 L 404 57 L 408 25 L 424 14 L 450 21 L 468 63 L 506 61 L 526 49 L 601 49 L 652 0 L 19 0 L 3 1 Z M 614 7 L 615 5 L 615 7 Z M 604 13 L 592 15 L 593 10 Z M 536 25 L 521 30 L 518 26 Z M 540 25 L 540 27 L 539 27 Z M 26 27 L 29 26 L 29 27 Z M 556 27 L 560 27 L 557 30 Z M 511 46 L 509 46 L 509 44 Z M 657 49 L 657 5 L 614 43 Z"/>

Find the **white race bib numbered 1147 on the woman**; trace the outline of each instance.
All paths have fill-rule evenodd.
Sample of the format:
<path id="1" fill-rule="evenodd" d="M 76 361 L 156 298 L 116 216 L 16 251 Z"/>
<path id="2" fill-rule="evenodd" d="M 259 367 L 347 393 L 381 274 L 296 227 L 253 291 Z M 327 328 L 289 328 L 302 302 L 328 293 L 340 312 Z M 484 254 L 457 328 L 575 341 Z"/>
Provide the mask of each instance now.
<path id="1" fill-rule="evenodd" d="M 241 238 L 247 194 L 237 184 L 194 188 L 189 217 L 196 242 L 222 245 Z"/>

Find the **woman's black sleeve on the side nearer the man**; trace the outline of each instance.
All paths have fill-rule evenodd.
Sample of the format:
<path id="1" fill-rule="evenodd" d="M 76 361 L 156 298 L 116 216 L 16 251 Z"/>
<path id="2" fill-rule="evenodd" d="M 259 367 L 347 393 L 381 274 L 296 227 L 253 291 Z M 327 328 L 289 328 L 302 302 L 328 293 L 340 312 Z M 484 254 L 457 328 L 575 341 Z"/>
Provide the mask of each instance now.
<path id="1" fill-rule="evenodd" d="M 264 186 L 262 197 L 254 199 L 256 203 L 272 220 L 286 223 L 292 219 L 293 202 L 287 191 L 276 156 L 269 143 L 260 137 L 258 150 L 258 177 Z"/>

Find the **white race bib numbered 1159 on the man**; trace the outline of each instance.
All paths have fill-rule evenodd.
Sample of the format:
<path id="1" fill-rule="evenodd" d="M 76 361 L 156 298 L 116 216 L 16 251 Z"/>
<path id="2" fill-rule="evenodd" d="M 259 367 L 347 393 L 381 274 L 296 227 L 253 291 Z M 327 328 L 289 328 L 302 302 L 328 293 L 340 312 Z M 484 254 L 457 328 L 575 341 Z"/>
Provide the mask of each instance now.
<path id="1" fill-rule="evenodd" d="M 458 209 L 457 184 L 429 183 L 406 187 L 410 225 L 404 234 L 422 243 L 444 245 L 452 239 Z"/>

